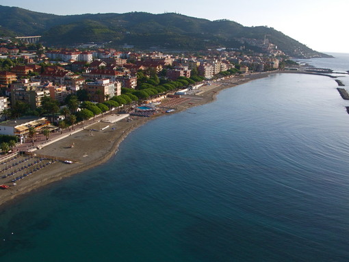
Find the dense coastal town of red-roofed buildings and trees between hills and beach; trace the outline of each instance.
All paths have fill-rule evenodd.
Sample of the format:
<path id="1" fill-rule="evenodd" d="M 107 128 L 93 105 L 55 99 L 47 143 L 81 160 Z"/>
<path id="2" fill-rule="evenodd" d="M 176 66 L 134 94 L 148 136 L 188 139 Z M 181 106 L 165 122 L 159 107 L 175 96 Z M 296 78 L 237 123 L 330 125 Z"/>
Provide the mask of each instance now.
<path id="1" fill-rule="evenodd" d="M 196 94 L 217 79 L 278 70 L 293 63 L 268 43 L 266 53 L 220 49 L 179 54 L 101 47 L 51 49 L 38 40 L 0 40 L 3 154 L 25 142 L 34 146 L 39 133 L 49 138 L 53 132 L 73 129 L 114 109 L 151 116 L 156 113 L 154 105 L 163 103 L 172 112 L 169 98 Z M 138 104 L 148 107 L 132 106 Z"/>

